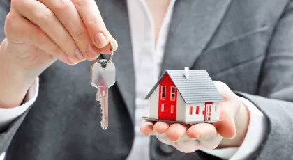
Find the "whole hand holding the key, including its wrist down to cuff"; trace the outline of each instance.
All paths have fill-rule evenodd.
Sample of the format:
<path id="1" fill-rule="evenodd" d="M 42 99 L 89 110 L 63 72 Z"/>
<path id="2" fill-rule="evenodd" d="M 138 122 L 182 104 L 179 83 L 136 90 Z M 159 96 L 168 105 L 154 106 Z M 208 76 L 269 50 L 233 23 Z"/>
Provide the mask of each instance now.
<path id="1" fill-rule="evenodd" d="M 109 40 L 117 49 L 95 0 L 11 0 L 5 35 L 0 77 L 6 79 L 0 88 L 9 92 L 0 91 L 2 107 L 19 106 L 31 83 L 57 59 L 68 65 L 94 60 L 110 54 Z"/>

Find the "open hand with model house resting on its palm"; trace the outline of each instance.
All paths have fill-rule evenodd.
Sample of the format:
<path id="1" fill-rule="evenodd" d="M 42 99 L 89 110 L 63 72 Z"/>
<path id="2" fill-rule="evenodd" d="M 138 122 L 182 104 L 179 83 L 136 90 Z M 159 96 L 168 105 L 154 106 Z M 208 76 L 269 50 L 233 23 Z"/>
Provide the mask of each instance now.
<path id="1" fill-rule="evenodd" d="M 154 135 L 161 142 L 186 153 L 199 149 L 211 150 L 216 147 L 241 145 L 248 127 L 249 118 L 246 106 L 225 83 L 219 81 L 214 81 L 214 83 L 225 100 L 220 102 L 221 122 L 181 125 L 179 123 L 143 121 L 142 134 L 144 136 Z M 236 130 L 241 131 L 237 136 Z"/>

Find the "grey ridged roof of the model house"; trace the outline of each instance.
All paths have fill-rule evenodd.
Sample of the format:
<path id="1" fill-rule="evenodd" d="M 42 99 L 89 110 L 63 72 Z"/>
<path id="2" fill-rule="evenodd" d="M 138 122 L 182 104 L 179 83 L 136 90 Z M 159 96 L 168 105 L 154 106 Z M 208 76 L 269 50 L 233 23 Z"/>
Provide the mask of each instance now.
<path id="1" fill-rule="evenodd" d="M 206 70 L 189 70 L 188 79 L 184 76 L 184 70 L 167 70 L 145 99 L 149 99 L 151 93 L 156 90 L 156 87 L 166 74 L 169 74 L 186 104 L 223 101 L 223 97 Z"/>

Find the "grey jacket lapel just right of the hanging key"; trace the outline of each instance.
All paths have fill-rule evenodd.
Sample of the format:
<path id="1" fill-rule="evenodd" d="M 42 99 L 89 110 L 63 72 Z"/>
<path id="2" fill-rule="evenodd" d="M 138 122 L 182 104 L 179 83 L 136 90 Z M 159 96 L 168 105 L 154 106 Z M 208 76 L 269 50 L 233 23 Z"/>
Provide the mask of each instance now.
<path id="1" fill-rule="evenodd" d="M 116 67 L 116 85 L 134 122 L 135 74 L 126 0 L 97 0 L 97 4 L 107 29 L 119 45 L 112 59 Z M 105 54 L 101 56 L 108 58 Z"/>

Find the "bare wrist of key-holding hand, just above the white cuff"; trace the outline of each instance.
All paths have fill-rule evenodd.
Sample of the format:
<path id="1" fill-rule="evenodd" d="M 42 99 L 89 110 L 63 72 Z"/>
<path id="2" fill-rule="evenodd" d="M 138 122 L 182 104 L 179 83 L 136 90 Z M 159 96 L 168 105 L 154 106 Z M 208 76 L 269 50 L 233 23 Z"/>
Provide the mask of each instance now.
<path id="1" fill-rule="evenodd" d="M 13 54 L 7 51 L 7 41 L 3 40 L 0 45 L 0 108 L 20 106 L 37 76 L 17 65 Z"/>

